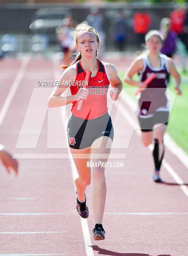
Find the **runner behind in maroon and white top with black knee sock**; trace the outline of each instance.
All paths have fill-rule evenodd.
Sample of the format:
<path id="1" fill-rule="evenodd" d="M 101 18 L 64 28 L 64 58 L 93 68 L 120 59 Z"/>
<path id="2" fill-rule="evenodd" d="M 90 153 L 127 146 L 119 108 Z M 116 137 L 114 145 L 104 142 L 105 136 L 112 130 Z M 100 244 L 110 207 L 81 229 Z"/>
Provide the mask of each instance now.
<path id="1" fill-rule="evenodd" d="M 154 139 L 154 174 L 155 182 L 162 182 L 159 171 L 164 156 L 163 136 L 167 129 L 169 118 L 169 104 L 166 95 L 169 73 L 175 78 L 175 90 L 181 95 L 180 76 L 171 58 L 160 54 L 163 37 L 156 31 L 151 30 L 145 35 L 147 51 L 138 56 L 128 68 L 124 81 L 129 85 L 141 88 L 138 98 L 138 121 L 141 126 L 142 143 L 147 147 Z M 132 80 L 132 76 L 138 73 L 140 81 Z M 155 74 L 153 81 L 145 85 L 144 81 L 151 73 Z"/>

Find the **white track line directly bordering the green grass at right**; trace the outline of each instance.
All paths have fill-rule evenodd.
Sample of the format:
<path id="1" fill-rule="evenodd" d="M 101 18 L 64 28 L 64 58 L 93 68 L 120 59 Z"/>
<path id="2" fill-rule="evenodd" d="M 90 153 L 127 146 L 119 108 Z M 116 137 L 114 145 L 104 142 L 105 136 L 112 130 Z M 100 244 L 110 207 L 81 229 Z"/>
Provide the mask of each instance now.
<path id="1" fill-rule="evenodd" d="M 133 99 L 131 99 L 131 97 L 124 90 L 122 90 L 121 94 L 121 100 L 126 103 L 126 105 L 132 110 L 132 112 L 135 112 L 136 102 L 134 102 Z M 164 135 L 164 143 L 165 146 L 171 151 L 171 153 L 175 154 L 179 161 L 182 162 L 186 168 L 188 168 L 188 155 L 184 152 L 182 148 L 180 148 L 175 143 L 175 141 L 167 133 Z"/>

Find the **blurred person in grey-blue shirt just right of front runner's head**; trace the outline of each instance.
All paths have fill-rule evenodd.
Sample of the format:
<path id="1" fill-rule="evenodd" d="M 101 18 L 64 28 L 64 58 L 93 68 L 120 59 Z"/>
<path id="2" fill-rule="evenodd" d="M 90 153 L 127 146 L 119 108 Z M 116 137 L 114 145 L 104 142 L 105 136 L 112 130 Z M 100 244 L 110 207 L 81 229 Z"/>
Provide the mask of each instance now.
<path id="1" fill-rule="evenodd" d="M 103 29 L 103 15 L 98 12 L 98 8 L 93 7 L 90 9 L 90 14 L 87 16 L 86 21 L 88 25 L 98 31 L 100 37 L 100 47 L 98 49 L 98 58 L 101 58 L 105 53 L 105 32 Z"/>

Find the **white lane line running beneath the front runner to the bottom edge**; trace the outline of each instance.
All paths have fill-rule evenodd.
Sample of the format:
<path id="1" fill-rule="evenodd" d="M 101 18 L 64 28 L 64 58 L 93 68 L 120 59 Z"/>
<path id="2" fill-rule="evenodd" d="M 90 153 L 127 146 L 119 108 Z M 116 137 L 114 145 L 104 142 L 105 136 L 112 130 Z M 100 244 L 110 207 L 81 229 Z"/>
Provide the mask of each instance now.
<path id="1" fill-rule="evenodd" d="M 52 60 L 53 60 L 53 66 L 54 66 L 54 76 L 55 76 L 55 80 L 56 80 L 58 78 L 58 76 L 60 76 L 60 73 L 56 71 L 55 58 L 52 58 Z M 66 108 L 65 107 L 66 106 L 61 108 L 63 123 L 64 123 L 64 117 L 66 117 L 66 115 L 65 115 Z M 64 135 L 65 135 L 65 132 L 64 132 Z M 73 184 L 74 184 L 74 189 L 75 189 L 75 194 L 76 194 L 76 186 L 75 186 L 74 180 L 77 178 L 78 173 L 77 173 L 77 169 L 76 169 L 76 166 L 75 166 L 74 161 L 73 161 L 73 157 L 72 157 L 69 149 L 68 149 L 68 154 L 69 154 L 69 160 L 70 160 L 70 163 L 71 163 Z M 76 203 L 76 195 L 75 195 L 75 203 Z M 91 243 L 90 231 L 89 231 L 89 228 L 88 228 L 87 220 L 83 219 L 81 217 L 80 217 L 80 220 L 81 220 L 82 233 L 83 233 L 83 237 L 84 237 L 86 256 L 94 256 L 94 251 L 93 251 L 93 247 L 92 247 L 92 243 Z"/>

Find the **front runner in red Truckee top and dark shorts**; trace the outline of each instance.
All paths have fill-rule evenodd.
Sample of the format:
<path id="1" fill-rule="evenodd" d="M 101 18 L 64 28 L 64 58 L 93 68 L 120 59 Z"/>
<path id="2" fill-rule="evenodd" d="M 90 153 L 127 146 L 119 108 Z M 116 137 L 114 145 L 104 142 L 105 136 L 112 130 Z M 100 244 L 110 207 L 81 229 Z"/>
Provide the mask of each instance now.
<path id="1" fill-rule="evenodd" d="M 99 61 L 97 50 L 100 39 L 98 32 L 84 24 L 75 29 L 76 48 L 79 52 L 75 61 L 64 66 L 66 70 L 60 77 L 61 85 L 66 81 L 75 81 L 70 87 L 71 96 L 61 94 L 67 86 L 55 88 L 48 100 L 50 108 L 72 103 L 72 115 L 68 120 L 68 143 L 74 163 L 77 167 L 78 178 L 75 180 L 77 189 L 77 211 L 82 218 L 89 216 L 86 206 L 85 189 L 90 185 L 91 168 L 87 167 L 93 159 L 93 208 L 95 227 L 94 240 L 103 240 L 105 231 L 102 220 L 106 200 L 105 163 L 111 151 L 113 126 L 107 110 L 107 91 L 109 84 L 113 87 L 110 92 L 112 100 L 117 100 L 122 90 L 122 82 L 116 68 L 110 63 Z M 81 88 L 80 81 L 85 80 L 86 72 L 91 71 L 88 89 Z M 115 90 L 114 90 L 115 89 Z M 77 111 L 78 101 L 85 99 L 81 111 Z M 79 159 L 77 154 L 88 157 Z M 103 164 L 99 164 L 102 162 Z"/>

